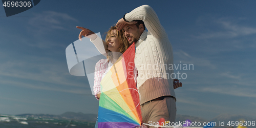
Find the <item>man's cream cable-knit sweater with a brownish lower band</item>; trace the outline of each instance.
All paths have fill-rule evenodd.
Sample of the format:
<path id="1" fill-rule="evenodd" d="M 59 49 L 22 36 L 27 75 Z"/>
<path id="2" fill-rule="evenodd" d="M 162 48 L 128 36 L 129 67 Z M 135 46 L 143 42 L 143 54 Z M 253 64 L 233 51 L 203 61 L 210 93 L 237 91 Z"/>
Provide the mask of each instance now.
<path id="1" fill-rule="evenodd" d="M 140 103 L 161 96 L 174 96 L 173 48 L 155 11 L 148 5 L 140 6 L 124 17 L 127 21 L 143 20 L 144 31 L 136 42 L 135 66 L 138 70 L 137 87 Z"/>

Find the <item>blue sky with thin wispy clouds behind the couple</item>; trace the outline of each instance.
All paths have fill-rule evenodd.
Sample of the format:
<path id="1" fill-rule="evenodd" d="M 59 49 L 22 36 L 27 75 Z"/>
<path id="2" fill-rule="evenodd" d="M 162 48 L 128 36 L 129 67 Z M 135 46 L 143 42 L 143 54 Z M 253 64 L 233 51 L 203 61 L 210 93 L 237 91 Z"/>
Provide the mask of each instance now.
<path id="1" fill-rule="evenodd" d="M 76 26 L 101 34 L 141 5 L 158 14 L 176 65 L 193 64 L 176 89 L 177 114 L 256 114 L 255 1 L 41 1 L 6 17 L 0 7 L 0 113 L 97 114 L 85 77 L 69 74 Z"/>

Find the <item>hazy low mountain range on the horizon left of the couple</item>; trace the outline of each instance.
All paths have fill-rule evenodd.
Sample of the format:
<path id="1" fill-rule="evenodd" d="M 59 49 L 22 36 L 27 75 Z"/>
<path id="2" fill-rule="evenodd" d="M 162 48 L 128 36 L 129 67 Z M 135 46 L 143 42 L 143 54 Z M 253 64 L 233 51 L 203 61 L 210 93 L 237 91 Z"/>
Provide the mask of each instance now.
<path id="1" fill-rule="evenodd" d="M 87 120 L 95 122 L 97 115 L 96 114 L 83 114 L 83 113 L 74 113 L 66 112 L 61 115 L 50 115 L 50 114 L 20 114 L 17 116 L 23 117 L 39 117 L 39 118 L 54 118 L 54 119 L 76 119 L 76 120 Z"/>

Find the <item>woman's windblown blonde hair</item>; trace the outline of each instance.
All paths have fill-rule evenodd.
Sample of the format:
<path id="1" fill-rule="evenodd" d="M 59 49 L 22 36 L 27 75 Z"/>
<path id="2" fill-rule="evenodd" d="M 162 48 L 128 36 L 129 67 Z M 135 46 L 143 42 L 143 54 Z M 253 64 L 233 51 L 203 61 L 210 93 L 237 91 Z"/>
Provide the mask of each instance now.
<path id="1" fill-rule="evenodd" d="M 113 32 L 114 30 L 116 30 L 116 35 Z M 110 28 L 110 30 L 108 31 L 108 33 L 106 34 L 106 39 L 105 39 L 106 45 L 109 44 L 108 38 L 111 37 L 112 35 L 114 35 L 120 43 L 120 47 L 118 49 L 118 52 L 124 53 L 124 51 L 127 50 L 127 48 L 129 48 L 129 46 L 130 46 L 129 41 L 126 39 L 126 37 L 124 35 L 124 32 L 123 31 L 118 31 L 116 26 L 112 26 Z M 112 58 L 112 55 L 108 54 L 108 59 L 110 60 L 111 58 Z"/>

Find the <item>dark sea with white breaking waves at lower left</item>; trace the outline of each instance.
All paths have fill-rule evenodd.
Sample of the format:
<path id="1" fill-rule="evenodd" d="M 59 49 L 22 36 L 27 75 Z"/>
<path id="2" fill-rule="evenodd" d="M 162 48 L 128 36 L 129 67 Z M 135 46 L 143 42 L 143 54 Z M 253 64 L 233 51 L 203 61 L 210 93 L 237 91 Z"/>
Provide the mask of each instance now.
<path id="1" fill-rule="evenodd" d="M 0 128 L 93 128 L 95 122 L 0 114 Z"/>

